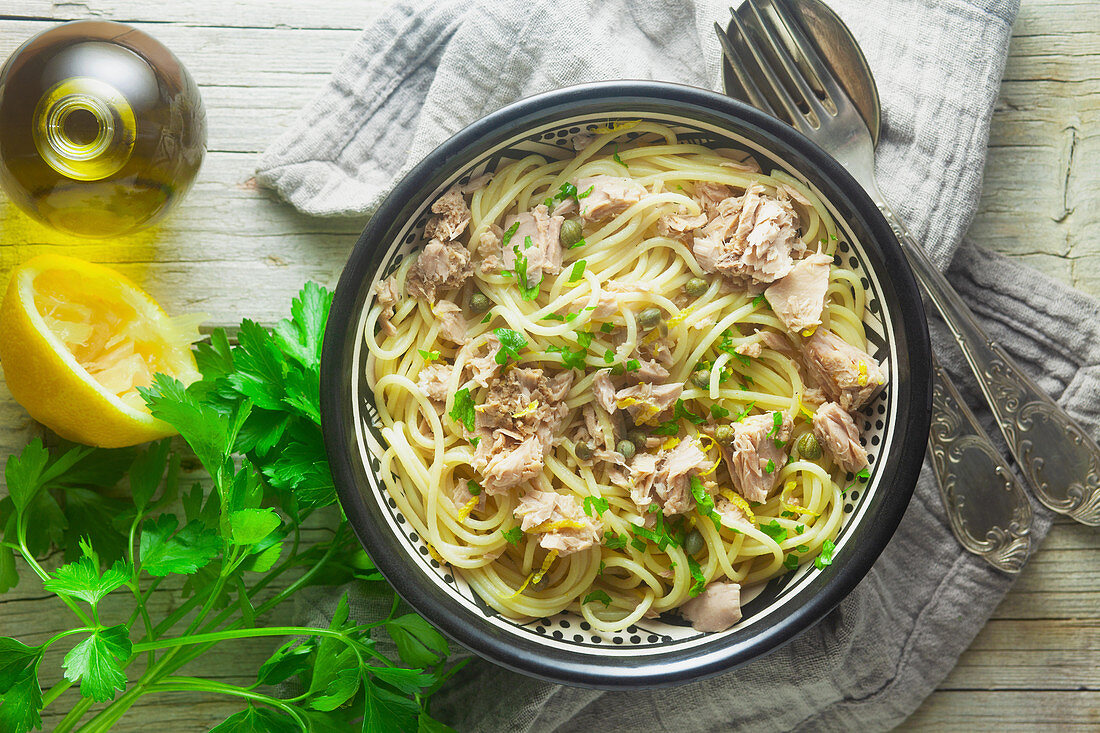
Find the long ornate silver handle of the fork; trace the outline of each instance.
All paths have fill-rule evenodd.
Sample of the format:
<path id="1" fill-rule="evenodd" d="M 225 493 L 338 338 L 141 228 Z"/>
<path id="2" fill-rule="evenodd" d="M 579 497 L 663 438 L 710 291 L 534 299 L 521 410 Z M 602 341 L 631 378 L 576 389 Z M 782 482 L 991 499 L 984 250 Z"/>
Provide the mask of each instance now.
<path id="1" fill-rule="evenodd" d="M 881 199 L 917 281 L 978 378 L 1004 440 L 1035 496 L 1081 524 L 1100 525 L 1100 448 L 993 341 L 963 298 Z"/>

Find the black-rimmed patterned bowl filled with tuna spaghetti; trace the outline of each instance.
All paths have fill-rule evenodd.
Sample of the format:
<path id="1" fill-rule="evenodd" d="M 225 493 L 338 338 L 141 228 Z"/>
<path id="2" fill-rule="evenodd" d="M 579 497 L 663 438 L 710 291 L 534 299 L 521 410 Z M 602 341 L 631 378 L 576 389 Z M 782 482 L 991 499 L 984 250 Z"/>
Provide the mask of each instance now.
<path id="1" fill-rule="evenodd" d="M 341 504 L 480 655 L 630 689 L 809 628 L 912 495 L 927 326 L 843 167 L 733 99 L 602 83 L 443 143 L 372 217 L 321 364 Z"/>

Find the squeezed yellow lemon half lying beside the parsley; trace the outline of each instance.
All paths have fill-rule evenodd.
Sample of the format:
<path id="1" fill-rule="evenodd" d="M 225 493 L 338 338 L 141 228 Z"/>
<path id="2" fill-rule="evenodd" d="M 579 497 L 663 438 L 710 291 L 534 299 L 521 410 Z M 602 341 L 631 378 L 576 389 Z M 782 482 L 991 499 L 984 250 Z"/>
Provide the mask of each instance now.
<path id="1" fill-rule="evenodd" d="M 190 344 L 202 319 L 170 318 L 110 267 L 44 254 L 12 272 L 0 305 L 0 363 L 15 401 L 57 435 L 133 446 L 176 433 L 148 413 L 138 387 L 157 373 L 199 379 Z"/>

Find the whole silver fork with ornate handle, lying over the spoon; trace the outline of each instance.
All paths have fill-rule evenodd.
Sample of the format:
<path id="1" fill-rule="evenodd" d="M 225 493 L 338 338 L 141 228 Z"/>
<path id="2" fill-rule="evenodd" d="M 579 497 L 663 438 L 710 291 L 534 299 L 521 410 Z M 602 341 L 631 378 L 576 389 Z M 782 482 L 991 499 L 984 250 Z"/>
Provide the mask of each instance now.
<path id="1" fill-rule="evenodd" d="M 890 209 L 875 179 L 875 146 L 867 124 L 783 2 L 777 0 L 772 3 L 774 19 L 771 14 L 761 12 L 757 0 L 747 2 L 781 67 L 777 68 L 768 63 L 752 34 L 747 31 L 737 12 L 730 9 L 734 23 L 746 47 L 750 50 L 757 69 L 794 127 L 832 153 L 848 169 L 894 230 L 917 281 L 944 317 L 967 363 L 974 370 L 1009 450 L 1037 499 L 1055 512 L 1066 514 L 1081 524 L 1100 525 L 1100 448 L 985 332 L 958 293 L 928 259 L 924 248 L 913 240 Z M 746 59 L 737 54 L 733 43 L 722 33 L 721 26 L 718 31 L 723 50 L 752 97 L 752 103 L 774 116 L 774 109 L 760 92 L 745 65 Z M 821 98 L 780 40 L 780 31 L 788 35 L 817 77 L 823 92 Z M 793 94 L 784 86 L 784 80 L 793 88 Z"/>

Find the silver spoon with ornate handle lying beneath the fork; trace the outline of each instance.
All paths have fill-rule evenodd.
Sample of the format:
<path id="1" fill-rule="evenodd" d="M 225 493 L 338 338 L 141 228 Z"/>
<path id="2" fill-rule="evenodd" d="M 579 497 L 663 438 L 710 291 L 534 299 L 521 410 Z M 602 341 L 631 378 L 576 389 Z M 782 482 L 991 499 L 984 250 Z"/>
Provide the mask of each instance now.
<path id="1" fill-rule="evenodd" d="M 877 144 L 881 121 L 878 88 L 851 32 L 820 0 L 790 0 L 784 6 L 793 21 L 801 24 L 813 40 L 817 52 L 867 125 L 872 144 Z M 757 28 L 762 15 L 758 17 L 745 3 L 738 11 L 738 19 L 743 28 Z M 721 26 L 717 30 L 727 55 L 730 52 L 752 53 L 754 50 L 734 45 L 734 39 L 744 37 L 734 20 L 725 36 Z M 802 74 L 812 77 L 813 74 L 807 73 L 812 67 L 806 54 L 793 36 L 776 35 L 801 67 Z M 740 64 L 739 70 L 744 73 L 746 66 L 751 65 Z M 723 76 L 726 94 L 752 103 L 752 95 L 746 90 L 734 66 L 725 64 Z M 746 84 L 751 83 L 746 80 Z M 758 85 L 758 94 L 760 86 L 767 88 L 767 85 Z M 773 105 L 772 109 L 782 107 Z M 1031 504 L 1007 462 L 935 359 L 928 446 L 949 525 L 959 543 L 1001 570 L 1019 571 L 1031 549 Z"/>

